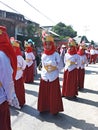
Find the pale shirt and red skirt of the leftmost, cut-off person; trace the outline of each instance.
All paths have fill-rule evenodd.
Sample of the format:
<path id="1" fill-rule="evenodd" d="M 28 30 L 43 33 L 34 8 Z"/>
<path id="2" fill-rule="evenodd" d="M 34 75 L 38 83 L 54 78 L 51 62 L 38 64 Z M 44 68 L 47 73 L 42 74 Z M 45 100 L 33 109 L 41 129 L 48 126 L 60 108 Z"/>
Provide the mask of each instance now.
<path id="1" fill-rule="evenodd" d="M 12 67 L 9 58 L 0 51 L 0 130 L 11 130 L 9 102 L 12 100 Z"/>

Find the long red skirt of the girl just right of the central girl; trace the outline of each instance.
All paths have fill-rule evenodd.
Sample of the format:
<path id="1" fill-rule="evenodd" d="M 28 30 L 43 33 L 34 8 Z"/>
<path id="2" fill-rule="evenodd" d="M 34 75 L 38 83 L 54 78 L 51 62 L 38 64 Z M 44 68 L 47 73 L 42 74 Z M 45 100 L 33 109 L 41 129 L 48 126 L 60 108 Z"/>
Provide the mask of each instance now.
<path id="1" fill-rule="evenodd" d="M 78 74 L 77 69 L 72 71 L 64 71 L 63 78 L 63 87 L 62 87 L 62 96 L 65 97 L 74 97 L 78 95 Z"/>

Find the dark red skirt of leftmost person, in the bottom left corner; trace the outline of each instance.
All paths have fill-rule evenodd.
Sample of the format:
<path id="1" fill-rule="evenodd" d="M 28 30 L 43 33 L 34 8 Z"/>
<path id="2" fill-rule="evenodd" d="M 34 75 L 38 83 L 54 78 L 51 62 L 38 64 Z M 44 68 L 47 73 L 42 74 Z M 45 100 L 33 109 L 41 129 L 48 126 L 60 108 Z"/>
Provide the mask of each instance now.
<path id="1" fill-rule="evenodd" d="M 11 130 L 11 120 L 8 102 L 0 104 L 0 130 Z"/>

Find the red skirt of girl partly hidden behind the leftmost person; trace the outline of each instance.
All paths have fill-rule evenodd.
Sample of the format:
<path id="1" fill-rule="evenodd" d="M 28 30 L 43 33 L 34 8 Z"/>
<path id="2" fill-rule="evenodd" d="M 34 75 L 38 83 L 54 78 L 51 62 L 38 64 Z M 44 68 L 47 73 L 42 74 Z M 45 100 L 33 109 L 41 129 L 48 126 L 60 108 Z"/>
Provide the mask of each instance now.
<path id="1" fill-rule="evenodd" d="M 14 81 L 15 92 L 19 101 L 19 105 L 22 107 L 25 104 L 25 87 L 23 78 Z"/>

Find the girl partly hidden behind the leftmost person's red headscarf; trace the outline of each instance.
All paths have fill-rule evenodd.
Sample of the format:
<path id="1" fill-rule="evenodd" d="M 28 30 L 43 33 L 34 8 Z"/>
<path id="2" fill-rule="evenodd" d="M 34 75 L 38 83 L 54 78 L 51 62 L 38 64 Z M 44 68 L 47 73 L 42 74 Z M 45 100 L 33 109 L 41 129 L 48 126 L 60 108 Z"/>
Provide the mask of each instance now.
<path id="1" fill-rule="evenodd" d="M 17 73 L 14 80 L 15 92 L 17 98 L 19 100 L 20 107 L 23 107 L 25 104 L 25 87 L 24 87 L 24 70 L 26 68 L 26 62 L 22 57 L 21 49 L 20 49 L 20 42 L 15 40 L 13 42 L 13 49 L 15 51 L 17 57 Z"/>

